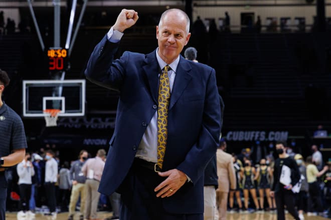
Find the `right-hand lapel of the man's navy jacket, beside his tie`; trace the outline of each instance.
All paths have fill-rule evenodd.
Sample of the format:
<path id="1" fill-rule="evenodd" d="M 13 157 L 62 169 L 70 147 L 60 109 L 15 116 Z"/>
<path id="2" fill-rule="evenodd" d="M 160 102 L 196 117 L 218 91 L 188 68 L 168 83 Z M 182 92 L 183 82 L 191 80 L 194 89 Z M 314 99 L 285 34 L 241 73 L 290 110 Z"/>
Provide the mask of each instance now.
<path id="1" fill-rule="evenodd" d="M 192 78 L 192 76 L 189 74 L 190 70 L 191 66 L 189 64 L 189 61 L 187 61 L 183 56 L 181 56 L 177 66 L 176 78 L 170 97 L 169 110 L 171 110 L 179 97 L 182 95 L 186 86 L 189 84 Z"/>

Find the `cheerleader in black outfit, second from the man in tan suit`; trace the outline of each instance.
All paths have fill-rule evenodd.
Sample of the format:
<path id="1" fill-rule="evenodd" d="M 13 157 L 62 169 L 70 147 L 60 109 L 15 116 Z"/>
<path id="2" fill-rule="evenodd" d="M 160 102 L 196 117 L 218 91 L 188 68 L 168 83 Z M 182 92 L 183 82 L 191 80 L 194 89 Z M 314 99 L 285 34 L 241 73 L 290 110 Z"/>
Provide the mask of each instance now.
<path id="1" fill-rule="evenodd" d="M 243 191 L 244 191 L 244 205 L 245 211 L 248 212 L 248 196 L 249 192 L 251 193 L 256 210 L 260 209 L 259 202 L 256 197 L 256 189 L 254 181 L 257 179 L 255 168 L 251 166 L 251 161 L 245 160 L 245 167 L 241 169 L 240 177 L 243 180 Z"/>

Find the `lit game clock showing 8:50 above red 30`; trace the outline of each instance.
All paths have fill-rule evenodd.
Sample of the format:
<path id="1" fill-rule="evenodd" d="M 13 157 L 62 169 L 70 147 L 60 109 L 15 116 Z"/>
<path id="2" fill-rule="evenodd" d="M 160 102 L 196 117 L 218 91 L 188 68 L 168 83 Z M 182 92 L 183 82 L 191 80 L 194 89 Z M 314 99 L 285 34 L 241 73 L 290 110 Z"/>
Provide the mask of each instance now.
<path id="1" fill-rule="evenodd" d="M 67 50 L 63 48 L 49 48 L 47 50 L 49 57 L 48 69 L 59 71 L 65 69 Z"/>

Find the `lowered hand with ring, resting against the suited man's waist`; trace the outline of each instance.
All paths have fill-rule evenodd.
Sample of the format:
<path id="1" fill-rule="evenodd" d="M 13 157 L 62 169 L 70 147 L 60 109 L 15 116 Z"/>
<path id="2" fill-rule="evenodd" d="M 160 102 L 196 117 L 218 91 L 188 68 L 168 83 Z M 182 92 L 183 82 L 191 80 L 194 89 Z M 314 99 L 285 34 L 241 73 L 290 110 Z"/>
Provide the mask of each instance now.
<path id="1" fill-rule="evenodd" d="M 159 172 L 158 175 L 168 176 L 168 178 L 166 178 L 154 189 L 155 192 L 158 191 L 156 197 L 161 196 L 161 198 L 170 197 L 175 194 L 188 179 L 185 173 L 178 169 Z"/>

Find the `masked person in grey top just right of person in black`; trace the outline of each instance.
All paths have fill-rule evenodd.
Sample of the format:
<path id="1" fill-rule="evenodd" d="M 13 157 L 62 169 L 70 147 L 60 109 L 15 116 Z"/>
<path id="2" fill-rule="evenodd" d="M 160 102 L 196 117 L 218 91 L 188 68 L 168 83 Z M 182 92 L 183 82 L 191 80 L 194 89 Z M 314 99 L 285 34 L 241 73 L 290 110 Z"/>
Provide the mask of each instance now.
<path id="1" fill-rule="evenodd" d="M 295 154 L 294 159 L 296 161 L 296 164 L 299 166 L 299 170 L 300 170 L 300 174 L 301 176 L 303 176 L 304 178 L 302 179 L 301 182 L 301 186 L 300 186 L 300 191 L 299 193 L 295 196 L 296 199 L 296 206 L 298 208 L 298 212 L 299 212 L 299 218 L 301 220 L 304 219 L 303 217 L 303 211 L 307 210 L 307 196 L 308 196 L 308 190 L 309 190 L 309 186 L 308 186 L 308 182 L 307 182 L 307 175 L 306 175 L 306 166 L 303 162 L 303 157 L 301 154 Z"/>

